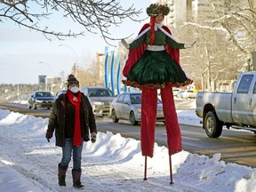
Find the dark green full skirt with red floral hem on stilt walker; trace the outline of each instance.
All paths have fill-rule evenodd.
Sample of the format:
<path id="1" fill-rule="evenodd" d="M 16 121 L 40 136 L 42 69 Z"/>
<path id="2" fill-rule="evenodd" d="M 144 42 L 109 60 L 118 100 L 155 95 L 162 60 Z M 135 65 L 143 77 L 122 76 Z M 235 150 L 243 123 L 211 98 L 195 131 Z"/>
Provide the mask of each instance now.
<path id="1" fill-rule="evenodd" d="M 132 67 L 127 80 L 123 80 L 124 84 L 140 89 L 158 89 L 168 84 L 180 87 L 192 82 L 165 50 L 146 50 Z"/>

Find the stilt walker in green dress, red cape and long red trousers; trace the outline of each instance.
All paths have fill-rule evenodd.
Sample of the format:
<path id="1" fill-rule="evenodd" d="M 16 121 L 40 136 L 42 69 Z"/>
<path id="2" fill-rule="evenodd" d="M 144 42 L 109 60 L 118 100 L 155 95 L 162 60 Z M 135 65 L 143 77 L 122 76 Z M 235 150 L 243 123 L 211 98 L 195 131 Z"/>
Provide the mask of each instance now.
<path id="1" fill-rule="evenodd" d="M 152 157 L 155 144 L 157 89 L 160 89 L 164 109 L 165 128 L 169 148 L 172 184 L 171 156 L 182 150 L 181 134 L 173 100 L 172 86 L 192 83 L 180 68 L 180 49 L 193 44 L 180 44 L 169 28 L 162 23 L 170 9 L 167 5 L 150 4 L 147 8 L 150 23 L 145 24 L 131 44 L 122 39 L 129 49 L 123 75 L 123 83 L 142 90 L 140 147 L 145 156 L 144 180 L 147 180 L 147 156 Z"/>

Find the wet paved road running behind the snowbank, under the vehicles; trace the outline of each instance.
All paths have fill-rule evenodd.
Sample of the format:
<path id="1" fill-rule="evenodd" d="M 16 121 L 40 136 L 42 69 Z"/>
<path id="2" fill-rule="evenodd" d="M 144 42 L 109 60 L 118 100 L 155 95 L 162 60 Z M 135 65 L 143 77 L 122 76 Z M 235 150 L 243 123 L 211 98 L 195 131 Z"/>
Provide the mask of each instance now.
<path id="1" fill-rule="evenodd" d="M 189 100 L 179 100 L 179 108 L 189 106 Z M 185 104 L 184 104 L 185 103 Z M 191 105 L 193 106 L 193 105 Z M 51 110 L 28 109 L 26 105 L 1 104 L 0 108 L 10 108 L 13 111 L 33 116 L 48 117 Z M 192 108 L 192 107 L 191 107 Z M 190 109 L 191 109 L 190 108 Z M 193 109 L 193 108 L 192 108 Z M 140 140 L 140 125 L 132 126 L 128 121 L 120 120 L 113 124 L 109 117 L 97 118 L 100 132 L 120 133 L 124 137 Z M 237 132 L 223 130 L 220 138 L 208 138 L 202 127 L 180 124 L 183 149 L 198 155 L 213 156 L 221 153 L 221 160 L 226 163 L 244 164 L 256 168 L 256 135 L 252 132 Z M 166 146 L 166 133 L 163 123 L 156 123 L 156 142 Z"/>

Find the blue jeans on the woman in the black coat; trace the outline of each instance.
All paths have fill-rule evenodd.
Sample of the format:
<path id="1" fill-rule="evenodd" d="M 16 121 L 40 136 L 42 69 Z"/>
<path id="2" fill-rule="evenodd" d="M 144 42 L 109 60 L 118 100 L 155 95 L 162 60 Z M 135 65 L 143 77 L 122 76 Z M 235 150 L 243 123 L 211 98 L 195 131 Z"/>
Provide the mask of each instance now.
<path id="1" fill-rule="evenodd" d="M 80 169 L 81 168 L 81 159 L 82 159 L 82 149 L 83 149 L 84 140 L 82 138 L 82 145 L 81 146 L 73 146 L 73 138 L 66 138 L 65 145 L 62 148 L 62 158 L 60 165 L 61 166 L 68 166 L 72 150 L 73 150 L 73 169 Z"/>

